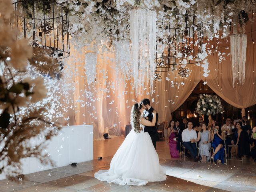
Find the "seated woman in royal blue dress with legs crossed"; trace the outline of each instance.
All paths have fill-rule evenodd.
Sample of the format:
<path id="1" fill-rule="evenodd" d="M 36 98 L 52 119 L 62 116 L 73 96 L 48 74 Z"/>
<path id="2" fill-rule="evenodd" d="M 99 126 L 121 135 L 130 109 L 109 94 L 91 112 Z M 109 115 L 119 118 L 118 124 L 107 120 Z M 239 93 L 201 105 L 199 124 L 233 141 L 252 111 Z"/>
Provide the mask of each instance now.
<path id="1" fill-rule="evenodd" d="M 224 163 L 224 140 L 225 131 L 222 131 L 218 125 L 215 126 L 211 133 L 212 147 L 214 148 L 214 153 L 211 156 L 211 160 L 217 164 Z"/>

